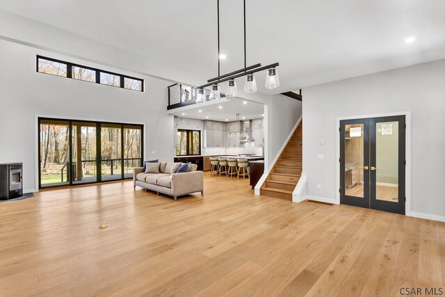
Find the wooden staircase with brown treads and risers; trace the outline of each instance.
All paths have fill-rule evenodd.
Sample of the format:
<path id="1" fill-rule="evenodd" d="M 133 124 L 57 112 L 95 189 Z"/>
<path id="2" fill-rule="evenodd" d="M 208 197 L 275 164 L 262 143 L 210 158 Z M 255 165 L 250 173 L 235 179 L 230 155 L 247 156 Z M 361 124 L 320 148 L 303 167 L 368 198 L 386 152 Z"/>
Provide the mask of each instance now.
<path id="1" fill-rule="evenodd" d="M 260 195 L 292 201 L 302 170 L 302 122 L 298 125 L 263 186 Z"/>

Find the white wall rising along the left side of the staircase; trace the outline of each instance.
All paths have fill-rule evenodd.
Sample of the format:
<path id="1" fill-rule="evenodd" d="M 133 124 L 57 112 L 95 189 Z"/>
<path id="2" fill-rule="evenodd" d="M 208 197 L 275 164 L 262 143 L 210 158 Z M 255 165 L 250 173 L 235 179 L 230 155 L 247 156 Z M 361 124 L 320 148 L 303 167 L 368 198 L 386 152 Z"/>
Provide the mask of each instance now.
<path id="1" fill-rule="evenodd" d="M 265 170 L 280 152 L 284 141 L 289 137 L 293 127 L 300 119 L 302 103 L 284 95 L 272 95 L 265 106 L 264 117 L 264 157 Z"/>

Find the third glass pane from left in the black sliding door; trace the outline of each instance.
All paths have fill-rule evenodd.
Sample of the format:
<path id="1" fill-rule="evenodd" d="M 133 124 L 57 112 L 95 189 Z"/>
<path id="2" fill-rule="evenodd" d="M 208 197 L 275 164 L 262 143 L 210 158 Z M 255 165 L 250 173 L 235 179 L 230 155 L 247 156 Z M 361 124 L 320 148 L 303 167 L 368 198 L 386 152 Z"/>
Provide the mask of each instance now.
<path id="1" fill-rule="evenodd" d="M 122 179 L 122 125 L 101 124 L 102 182 Z"/>

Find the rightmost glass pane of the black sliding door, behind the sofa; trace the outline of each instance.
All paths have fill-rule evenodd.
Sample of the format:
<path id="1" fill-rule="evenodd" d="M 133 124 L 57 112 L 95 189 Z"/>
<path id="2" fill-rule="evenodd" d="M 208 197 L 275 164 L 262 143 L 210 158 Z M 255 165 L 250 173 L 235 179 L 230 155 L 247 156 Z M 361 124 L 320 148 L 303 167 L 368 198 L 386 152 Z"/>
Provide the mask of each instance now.
<path id="1" fill-rule="evenodd" d="M 142 128 L 124 126 L 124 178 L 133 177 L 133 168 L 142 164 Z"/>

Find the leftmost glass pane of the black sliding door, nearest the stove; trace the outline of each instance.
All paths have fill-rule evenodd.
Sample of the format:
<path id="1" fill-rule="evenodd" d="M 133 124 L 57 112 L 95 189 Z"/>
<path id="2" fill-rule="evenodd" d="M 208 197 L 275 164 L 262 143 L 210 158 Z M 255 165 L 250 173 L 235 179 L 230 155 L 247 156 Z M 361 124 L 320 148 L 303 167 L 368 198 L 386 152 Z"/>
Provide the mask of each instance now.
<path id="1" fill-rule="evenodd" d="M 70 125 L 60 120 L 40 120 L 40 187 L 70 184 Z"/>

